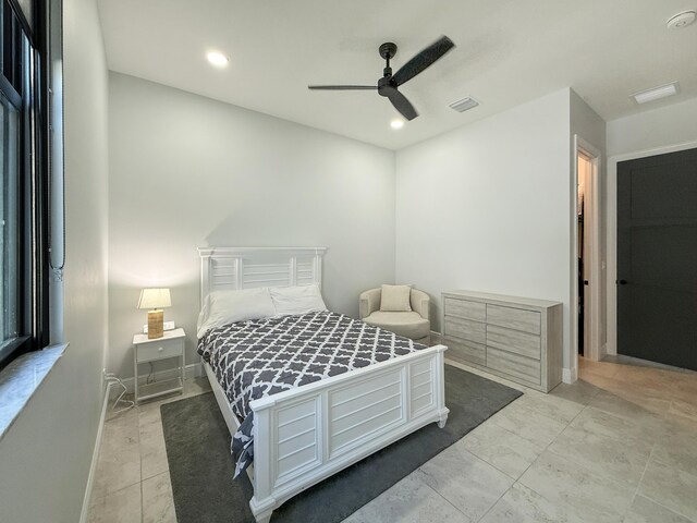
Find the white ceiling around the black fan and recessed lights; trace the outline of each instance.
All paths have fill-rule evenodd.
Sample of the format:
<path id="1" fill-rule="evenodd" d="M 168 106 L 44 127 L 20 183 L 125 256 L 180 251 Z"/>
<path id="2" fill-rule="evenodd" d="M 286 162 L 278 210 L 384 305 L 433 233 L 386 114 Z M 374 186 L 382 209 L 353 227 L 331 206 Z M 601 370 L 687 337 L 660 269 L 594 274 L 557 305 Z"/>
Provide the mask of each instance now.
<path id="1" fill-rule="evenodd" d="M 109 69 L 382 147 L 399 149 L 572 87 L 604 120 L 697 96 L 697 23 L 665 27 L 697 0 L 99 0 Z M 374 92 L 378 47 L 396 71 L 441 35 L 456 48 L 401 87 L 419 112 L 403 129 Z M 230 64 L 215 69 L 217 49 Z M 637 106 L 637 90 L 681 93 Z M 472 96 L 465 113 L 448 107 Z"/>

